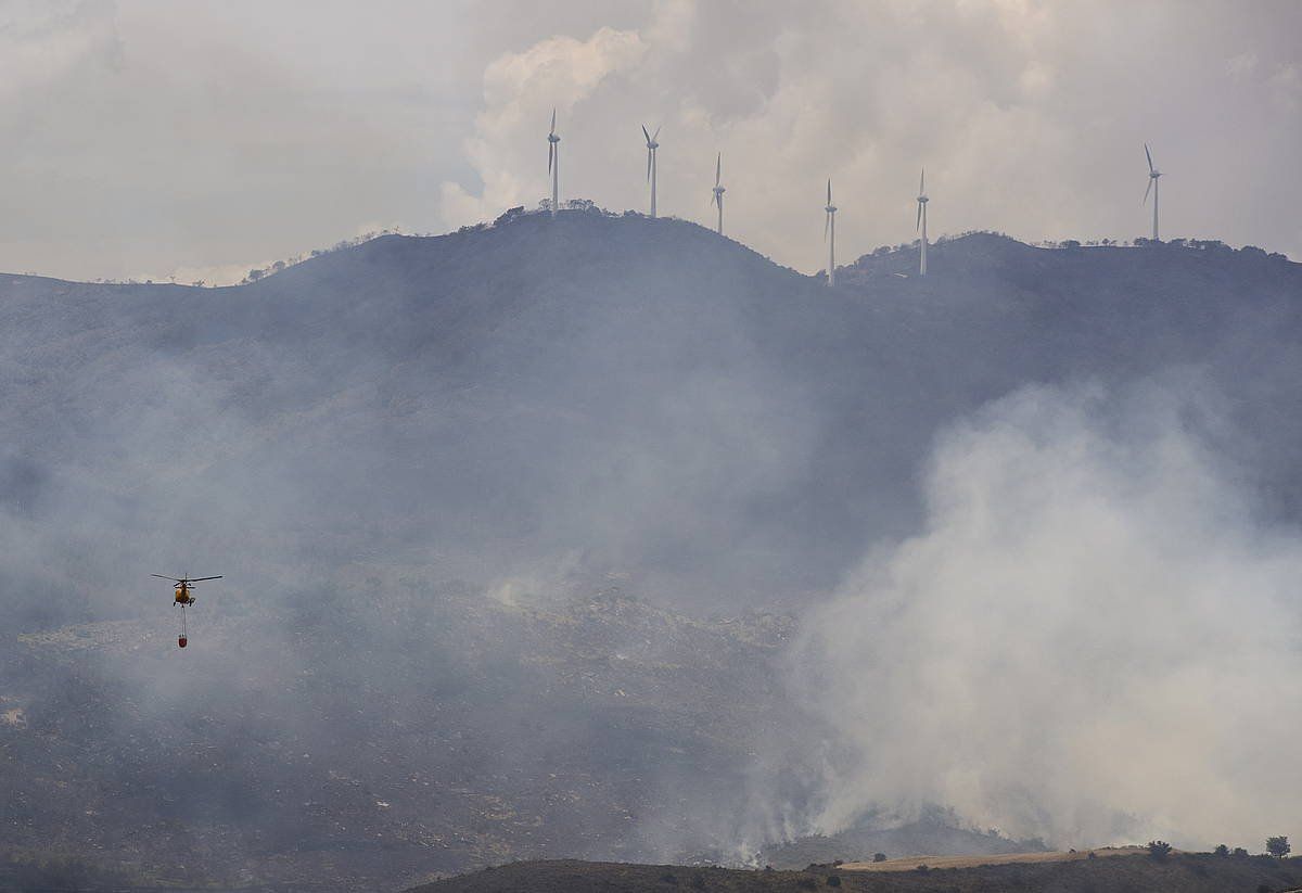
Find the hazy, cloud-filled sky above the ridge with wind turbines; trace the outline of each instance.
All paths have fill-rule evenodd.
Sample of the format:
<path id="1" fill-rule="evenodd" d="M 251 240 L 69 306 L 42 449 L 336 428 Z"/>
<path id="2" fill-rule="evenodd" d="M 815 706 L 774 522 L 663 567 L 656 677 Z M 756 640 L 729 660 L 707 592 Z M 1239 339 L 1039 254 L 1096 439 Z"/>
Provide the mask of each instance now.
<path id="1" fill-rule="evenodd" d="M 0 0 L 0 269 L 229 281 L 547 191 L 823 266 L 934 234 L 1163 234 L 1302 256 L 1302 4 Z"/>

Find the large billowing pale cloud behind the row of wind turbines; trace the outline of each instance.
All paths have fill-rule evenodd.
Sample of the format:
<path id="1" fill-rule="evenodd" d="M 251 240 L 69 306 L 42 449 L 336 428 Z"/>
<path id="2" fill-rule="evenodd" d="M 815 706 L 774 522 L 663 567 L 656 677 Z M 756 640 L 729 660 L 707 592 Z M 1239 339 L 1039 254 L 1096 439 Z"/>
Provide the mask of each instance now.
<path id="1" fill-rule="evenodd" d="M 825 177 L 844 197 L 842 254 L 855 256 L 914 237 L 911 184 L 923 164 L 937 232 L 1143 234 L 1144 142 L 1182 181 L 1237 181 L 1215 198 L 1168 189 L 1168 232 L 1297 253 L 1290 229 L 1241 213 L 1255 200 L 1245 199 L 1255 174 L 1237 164 L 1243 142 L 1284 163 L 1302 137 L 1276 111 L 1292 95 L 1286 74 L 1269 91 L 1250 86 L 1254 69 L 1286 73 L 1295 59 L 1271 36 L 1293 13 L 1273 9 L 1190 17 L 1170 3 L 934 0 L 815 3 L 794 16 L 661 4 L 618 31 L 637 52 L 600 52 L 611 33 L 596 27 L 488 65 L 467 151 L 483 189 L 445 187 L 444 220 L 491 217 L 547 194 L 539 121 L 559 104 L 562 194 L 644 207 L 638 125 L 663 124 L 661 213 L 708 223 L 710 161 L 721 151 L 729 232 L 806 271 L 823 258 Z"/>

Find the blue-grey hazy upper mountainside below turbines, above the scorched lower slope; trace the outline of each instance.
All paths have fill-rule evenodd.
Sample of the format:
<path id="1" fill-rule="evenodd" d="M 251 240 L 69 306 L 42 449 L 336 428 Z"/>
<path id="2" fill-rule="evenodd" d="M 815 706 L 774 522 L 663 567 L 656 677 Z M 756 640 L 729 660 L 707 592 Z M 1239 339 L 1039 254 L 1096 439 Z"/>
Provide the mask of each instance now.
<path id="1" fill-rule="evenodd" d="M 1298 517 L 1297 264 L 973 236 L 917 280 L 904 254 L 828 290 L 691 224 L 570 213 L 234 289 L 7 277 L 0 504 L 42 552 L 10 598 L 68 621 L 49 587 L 94 587 L 116 616 L 138 575 L 111 566 L 414 549 L 448 578 L 798 604 L 913 530 L 939 428 L 1035 383 L 1203 393 Z"/>

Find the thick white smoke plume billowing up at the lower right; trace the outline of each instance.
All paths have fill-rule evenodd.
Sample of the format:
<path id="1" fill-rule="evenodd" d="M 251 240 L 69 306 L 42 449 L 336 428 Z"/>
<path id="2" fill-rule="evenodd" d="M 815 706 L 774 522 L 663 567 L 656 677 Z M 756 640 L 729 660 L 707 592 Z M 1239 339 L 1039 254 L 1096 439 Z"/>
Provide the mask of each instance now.
<path id="1" fill-rule="evenodd" d="M 1302 538 L 1184 385 L 1029 388 L 945 435 L 926 530 L 807 622 L 841 730 L 819 824 L 952 804 L 1061 846 L 1263 840 L 1294 817 Z"/>

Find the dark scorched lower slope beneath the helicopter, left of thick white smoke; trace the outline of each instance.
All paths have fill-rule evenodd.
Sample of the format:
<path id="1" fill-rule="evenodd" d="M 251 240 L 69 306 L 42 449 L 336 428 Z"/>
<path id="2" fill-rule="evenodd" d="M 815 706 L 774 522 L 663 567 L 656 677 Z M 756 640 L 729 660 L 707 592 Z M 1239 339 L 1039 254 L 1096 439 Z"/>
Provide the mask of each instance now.
<path id="1" fill-rule="evenodd" d="M 0 855 L 329 889 L 522 855 L 737 858 L 749 755 L 797 716 L 789 620 L 359 570 L 290 617 L 214 598 L 185 652 L 147 621 L 7 635 Z"/>

